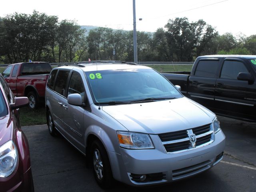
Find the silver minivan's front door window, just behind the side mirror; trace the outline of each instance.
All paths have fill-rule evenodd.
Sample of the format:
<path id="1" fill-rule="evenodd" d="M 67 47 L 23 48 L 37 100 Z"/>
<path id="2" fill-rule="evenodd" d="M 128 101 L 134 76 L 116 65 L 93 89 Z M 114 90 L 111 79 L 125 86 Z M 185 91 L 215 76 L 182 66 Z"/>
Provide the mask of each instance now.
<path id="1" fill-rule="evenodd" d="M 70 85 L 68 87 L 68 95 L 73 93 L 80 94 L 82 96 L 82 101 L 84 102 L 84 95 L 85 95 L 84 84 L 80 74 L 77 74 L 77 73 L 72 74 Z"/>

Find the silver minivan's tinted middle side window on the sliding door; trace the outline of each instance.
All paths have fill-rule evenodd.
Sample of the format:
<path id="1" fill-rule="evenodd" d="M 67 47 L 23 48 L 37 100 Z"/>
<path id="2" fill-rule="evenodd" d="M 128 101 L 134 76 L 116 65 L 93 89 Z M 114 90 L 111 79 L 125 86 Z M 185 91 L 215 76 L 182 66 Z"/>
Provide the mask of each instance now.
<path id="1" fill-rule="evenodd" d="M 70 71 L 59 70 L 55 82 L 55 91 L 63 96 L 65 96 L 65 88 L 68 81 L 68 75 Z"/>

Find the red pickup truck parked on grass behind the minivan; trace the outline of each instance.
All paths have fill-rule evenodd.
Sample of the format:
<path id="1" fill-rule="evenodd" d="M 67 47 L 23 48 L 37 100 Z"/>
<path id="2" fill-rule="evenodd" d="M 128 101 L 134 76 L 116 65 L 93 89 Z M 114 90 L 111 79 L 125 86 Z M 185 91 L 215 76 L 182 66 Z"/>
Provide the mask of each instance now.
<path id="1" fill-rule="evenodd" d="M 47 62 L 11 64 L 2 73 L 15 96 L 27 96 L 29 107 L 35 109 L 44 101 L 46 81 L 52 67 Z"/>

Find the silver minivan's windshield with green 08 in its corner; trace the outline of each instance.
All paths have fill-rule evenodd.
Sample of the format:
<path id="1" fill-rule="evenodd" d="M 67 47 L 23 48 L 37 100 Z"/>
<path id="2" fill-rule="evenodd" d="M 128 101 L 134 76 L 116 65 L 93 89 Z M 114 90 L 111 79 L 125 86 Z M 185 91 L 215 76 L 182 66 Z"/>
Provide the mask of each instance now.
<path id="1" fill-rule="evenodd" d="M 181 98 L 182 94 L 153 69 L 85 72 L 95 104 L 130 104 Z"/>

